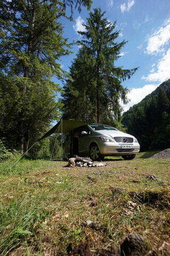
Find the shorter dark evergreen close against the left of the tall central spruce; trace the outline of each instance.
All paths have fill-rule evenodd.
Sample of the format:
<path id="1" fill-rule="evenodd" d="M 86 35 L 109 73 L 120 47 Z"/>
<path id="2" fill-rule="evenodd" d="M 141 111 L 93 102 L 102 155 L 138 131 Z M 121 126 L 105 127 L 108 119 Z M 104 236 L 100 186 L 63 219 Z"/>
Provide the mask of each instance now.
<path id="1" fill-rule="evenodd" d="M 81 48 L 70 67 L 71 78 L 64 86 L 63 118 L 80 121 L 95 121 L 95 92 L 92 90 L 93 73 L 90 65 L 93 59 Z"/>

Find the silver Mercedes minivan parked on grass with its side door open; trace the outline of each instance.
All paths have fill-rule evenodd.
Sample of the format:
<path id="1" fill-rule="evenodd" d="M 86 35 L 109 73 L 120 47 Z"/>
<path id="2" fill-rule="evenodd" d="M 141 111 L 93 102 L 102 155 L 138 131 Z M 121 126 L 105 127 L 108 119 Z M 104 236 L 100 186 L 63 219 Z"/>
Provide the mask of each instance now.
<path id="1" fill-rule="evenodd" d="M 77 154 L 100 161 L 104 156 L 122 156 L 132 160 L 139 152 L 137 139 L 114 127 L 92 123 L 79 127 L 66 136 L 64 151 L 66 157 Z"/>

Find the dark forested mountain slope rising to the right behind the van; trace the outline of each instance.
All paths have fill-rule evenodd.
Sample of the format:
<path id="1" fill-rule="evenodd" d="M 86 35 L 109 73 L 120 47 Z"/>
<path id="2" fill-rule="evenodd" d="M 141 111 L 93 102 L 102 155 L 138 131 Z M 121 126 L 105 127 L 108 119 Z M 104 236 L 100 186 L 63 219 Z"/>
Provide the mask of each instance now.
<path id="1" fill-rule="evenodd" d="M 170 147 L 170 79 L 123 114 L 127 132 L 139 139 L 141 149 Z"/>

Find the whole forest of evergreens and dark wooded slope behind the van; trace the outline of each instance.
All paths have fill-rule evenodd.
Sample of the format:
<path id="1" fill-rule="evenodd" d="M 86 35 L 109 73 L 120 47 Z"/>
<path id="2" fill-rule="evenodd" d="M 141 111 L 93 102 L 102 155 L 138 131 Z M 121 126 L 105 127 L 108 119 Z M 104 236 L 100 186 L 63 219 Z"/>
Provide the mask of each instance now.
<path id="1" fill-rule="evenodd" d="M 116 21 L 96 8 L 78 32 L 80 40 L 68 43 L 64 38 L 61 18 L 72 20 L 75 9 L 90 10 L 91 5 L 91 0 L 1 2 L 0 138 L 5 149 L 27 152 L 61 118 L 107 123 L 136 136 L 144 150 L 169 145 L 168 89 L 160 88 L 123 114 L 121 102 L 128 103 L 129 89 L 122 82 L 139 67 L 116 66 L 127 43 L 117 42 Z M 66 72 L 60 59 L 74 43 L 79 50 Z M 52 81 L 54 76 L 60 85 Z M 51 136 L 37 143 L 30 153 L 49 155 L 54 140 Z"/>

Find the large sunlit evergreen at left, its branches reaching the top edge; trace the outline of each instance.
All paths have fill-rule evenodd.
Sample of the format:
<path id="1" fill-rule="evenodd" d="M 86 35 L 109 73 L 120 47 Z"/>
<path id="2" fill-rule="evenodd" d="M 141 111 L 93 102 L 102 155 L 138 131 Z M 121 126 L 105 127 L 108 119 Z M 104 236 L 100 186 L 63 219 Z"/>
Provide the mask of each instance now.
<path id="1" fill-rule="evenodd" d="M 59 86 L 65 75 L 60 57 L 69 53 L 59 18 L 66 6 L 90 7 L 91 0 L 4 0 L 0 3 L 0 135 L 13 148 L 27 151 L 58 115 Z"/>

